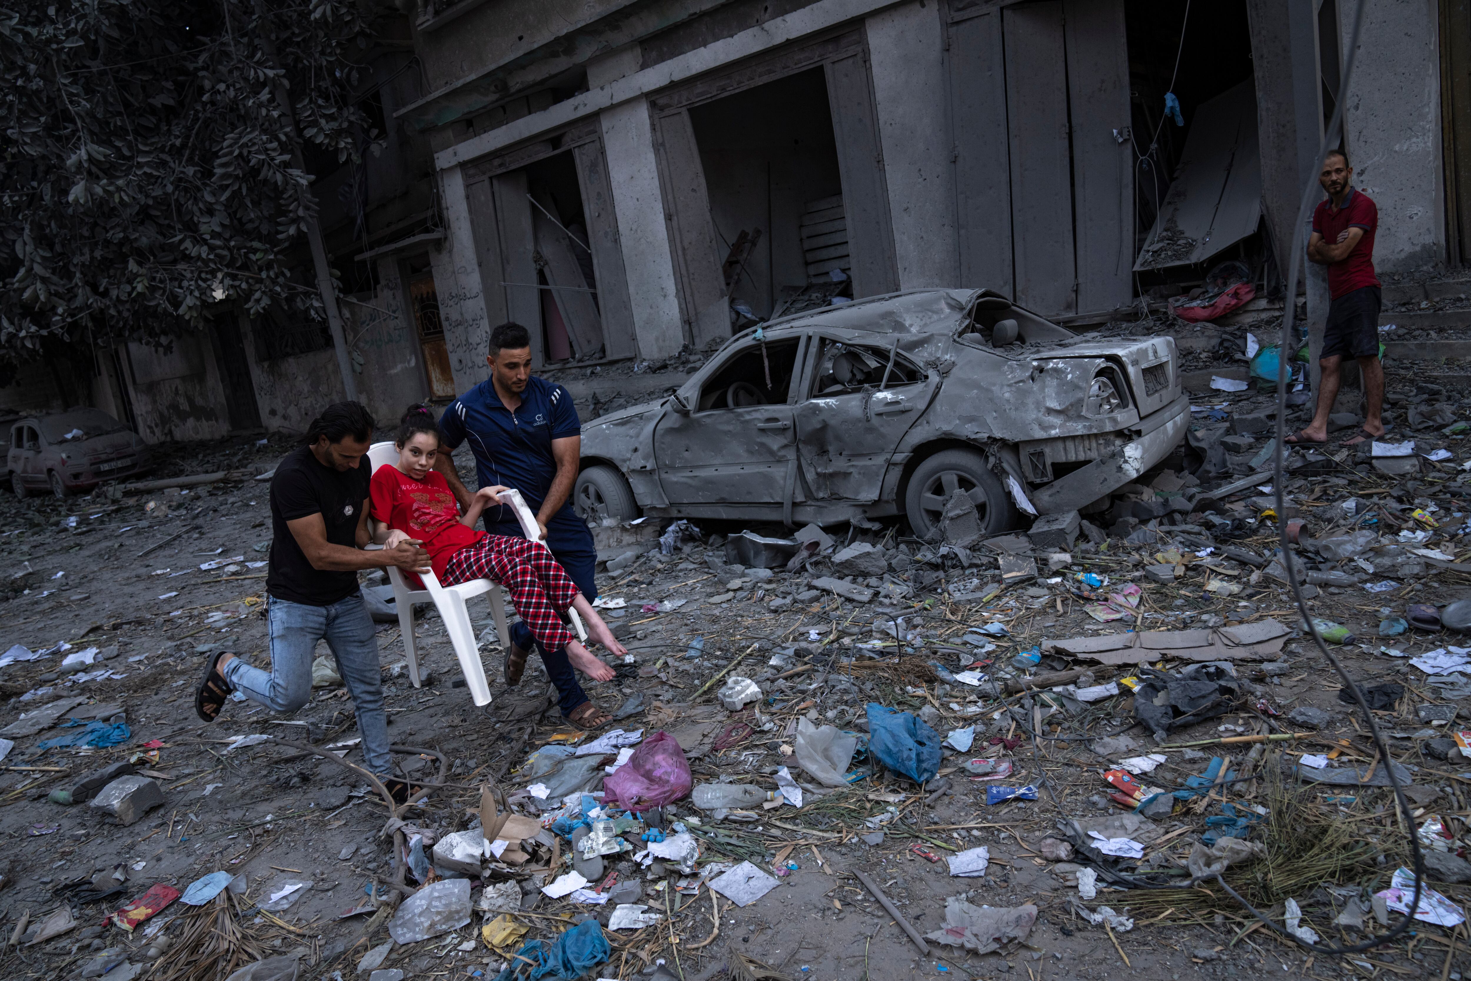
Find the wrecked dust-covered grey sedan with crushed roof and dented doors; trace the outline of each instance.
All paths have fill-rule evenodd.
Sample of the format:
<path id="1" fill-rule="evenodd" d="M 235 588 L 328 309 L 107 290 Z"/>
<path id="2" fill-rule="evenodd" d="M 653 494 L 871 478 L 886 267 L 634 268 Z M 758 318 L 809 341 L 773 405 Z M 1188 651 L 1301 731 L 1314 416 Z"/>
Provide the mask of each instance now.
<path id="1" fill-rule="evenodd" d="M 1089 512 L 1164 459 L 1189 399 L 1169 337 L 1090 340 L 987 290 L 916 290 L 733 337 L 675 394 L 583 427 L 585 518 L 788 527 L 965 491 L 987 534 Z"/>

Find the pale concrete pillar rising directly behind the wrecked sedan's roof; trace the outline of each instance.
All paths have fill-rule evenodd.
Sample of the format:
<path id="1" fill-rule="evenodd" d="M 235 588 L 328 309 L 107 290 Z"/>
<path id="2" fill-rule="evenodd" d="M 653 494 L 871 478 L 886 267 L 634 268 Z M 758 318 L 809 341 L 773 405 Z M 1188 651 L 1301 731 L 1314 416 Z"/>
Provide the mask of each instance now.
<path id="1" fill-rule="evenodd" d="M 866 19 L 900 290 L 965 285 L 959 281 L 940 6 L 912 0 Z"/>

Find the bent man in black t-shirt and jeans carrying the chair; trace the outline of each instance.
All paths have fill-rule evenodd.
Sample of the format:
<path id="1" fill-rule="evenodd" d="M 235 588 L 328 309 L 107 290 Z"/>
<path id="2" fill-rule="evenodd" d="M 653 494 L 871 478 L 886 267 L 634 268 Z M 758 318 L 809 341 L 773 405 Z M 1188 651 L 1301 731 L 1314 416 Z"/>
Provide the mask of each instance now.
<path id="1" fill-rule="evenodd" d="M 210 659 L 194 696 L 200 718 L 213 722 L 231 691 L 277 712 L 293 712 L 312 697 L 312 653 L 325 640 L 337 657 L 357 713 L 363 760 L 396 799 L 407 785 L 390 780 L 388 721 L 382 709 L 378 641 L 357 591 L 357 571 L 396 565 L 422 572 L 430 556 L 418 541 L 363 552 L 368 544 L 365 459 L 374 421 L 356 402 L 338 402 L 312 421 L 306 444 L 277 466 L 271 478 L 271 569 L 266 622 L 271 671 L 228 652 Z"/>

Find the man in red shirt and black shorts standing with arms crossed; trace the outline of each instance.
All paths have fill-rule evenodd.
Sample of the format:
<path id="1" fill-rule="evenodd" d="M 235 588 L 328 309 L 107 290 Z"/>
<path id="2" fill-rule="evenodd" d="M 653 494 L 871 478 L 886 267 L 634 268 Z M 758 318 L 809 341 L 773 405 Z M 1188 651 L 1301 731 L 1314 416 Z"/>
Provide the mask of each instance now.
<path id="1" fill-rule="evenodd" d="M 1318 182 L 1328 193 L 1312 213 L 1308 259 L 1328 266 L 1328 322 L 1322 332 L 1318 365 L 1318 410 L 1305 428 L 1287 437 L 1289 444 L 1327 443 L 1328 413 L 1339 396 L 1339 365 L 1344 356 L 1359 362 L 1364 377 L 1365 418 L 1358 432 L 1343 441 L 1353 446 L 1384 435 L 1384 366 L 1378 359 L 1380 281 L 1374 275 L 1374 229 L 1378 209 L 1364 191 L 1350 185 L 1353 168 L 1342 150 L 1322 162 Z"/>

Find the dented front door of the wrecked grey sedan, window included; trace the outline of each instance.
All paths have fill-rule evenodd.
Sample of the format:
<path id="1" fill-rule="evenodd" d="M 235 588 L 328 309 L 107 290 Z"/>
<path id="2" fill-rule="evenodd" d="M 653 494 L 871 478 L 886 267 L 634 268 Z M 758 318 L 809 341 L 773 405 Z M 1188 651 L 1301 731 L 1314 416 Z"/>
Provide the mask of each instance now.
<path id="1" fill-rule="evenodd" d="M 680 513 L 781 507 L 796 477 L 793 396 L 806 335 L 733 346 L 655 427 L 659 482 Z"/>

